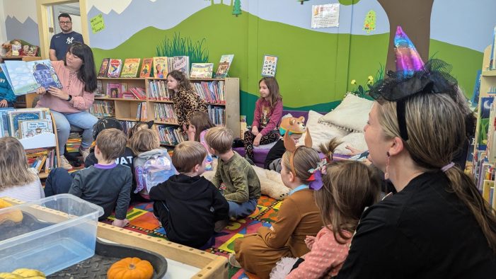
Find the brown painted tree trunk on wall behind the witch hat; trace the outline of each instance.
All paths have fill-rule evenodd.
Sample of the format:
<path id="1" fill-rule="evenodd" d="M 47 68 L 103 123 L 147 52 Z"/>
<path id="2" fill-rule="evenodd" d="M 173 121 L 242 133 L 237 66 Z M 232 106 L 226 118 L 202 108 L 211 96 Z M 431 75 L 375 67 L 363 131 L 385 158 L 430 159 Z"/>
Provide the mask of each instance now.
<path id="1" fill-rule="evenodd" d="M 398 25 L 412 40 L 422 59 L 429 58 L 430 21 L 434 0 L 377 0 L 389 20 L 389 44 L 386 71 L 395 70 L 393 40 Z"/>

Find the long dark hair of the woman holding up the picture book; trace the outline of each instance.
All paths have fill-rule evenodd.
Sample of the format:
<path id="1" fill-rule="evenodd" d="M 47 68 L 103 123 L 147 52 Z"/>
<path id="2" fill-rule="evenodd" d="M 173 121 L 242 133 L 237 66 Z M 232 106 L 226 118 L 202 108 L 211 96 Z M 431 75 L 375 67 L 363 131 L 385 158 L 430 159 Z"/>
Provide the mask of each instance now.
<path id="1" fill-rule="evenodd" d="M 78 79 L 84 82 L 84 91 L 94 92 L 96 90 L 96 72 L 91 48 L 82 42 L 73 42 L 67 48 L 67 52 L 83 60 L 83 64 L 78 71 Z M 67 65 L 66 57 L 64 57 L 64 65 Z"/>

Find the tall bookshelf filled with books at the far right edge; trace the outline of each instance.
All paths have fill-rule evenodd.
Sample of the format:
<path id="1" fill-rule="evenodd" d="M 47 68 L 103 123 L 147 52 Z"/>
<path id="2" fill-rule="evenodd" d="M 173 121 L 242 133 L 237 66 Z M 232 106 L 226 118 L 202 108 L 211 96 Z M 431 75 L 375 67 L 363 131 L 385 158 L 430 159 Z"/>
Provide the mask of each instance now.
<path id="1" fill-rule="evenodd" d="M 490 203 L 492 208 L 496 209 L 496 70 L 490 70 L 489 67 L 491 49 L 492 45 L 489 45 L 484 50 L 482 74 L 480 75 L 472 174 L 483 198 Z M 481 136 L 485 136 L 485 131 L 481 131 L 481 129 L 485 129 L 486 125 L 488 134 L 483 139 Z"/>

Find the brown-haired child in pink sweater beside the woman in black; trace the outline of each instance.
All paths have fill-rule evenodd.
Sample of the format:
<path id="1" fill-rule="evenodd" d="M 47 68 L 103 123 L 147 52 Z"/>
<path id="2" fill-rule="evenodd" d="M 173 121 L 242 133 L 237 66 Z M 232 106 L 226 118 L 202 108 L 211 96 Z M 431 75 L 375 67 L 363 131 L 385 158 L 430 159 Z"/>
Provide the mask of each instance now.
<path id="1" fill-rule="evenodd" d="M 334 150 L 338 144 L 338 141 L 331 141 L 327 149 Z M 282 258 L 272 269 L 270 278 L 331 278 L 338 275 L 362 212 L 379 199 L 380 180 L 362 162 L 344 160 L 321 165 L 313 169 L 313 176 L 316 180 L 310 187 L 315 190 L 325 227 L 317 237 L 306 237 L 306 246 L 311 249 L 308 254 L 301 258 Z"/>

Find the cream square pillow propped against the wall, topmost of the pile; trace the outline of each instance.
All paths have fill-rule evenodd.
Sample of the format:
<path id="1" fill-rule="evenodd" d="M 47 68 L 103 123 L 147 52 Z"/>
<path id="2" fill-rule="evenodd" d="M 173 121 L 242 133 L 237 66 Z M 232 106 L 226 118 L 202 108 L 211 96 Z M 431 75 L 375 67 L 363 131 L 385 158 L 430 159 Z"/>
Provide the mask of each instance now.
<path id="1" fill-rule="evenodd" d="M 319 120 L 333 123 L 346 130 L 364 132 L 373 104 L 374 101 L 347 94 L 339 106 Z"/>

